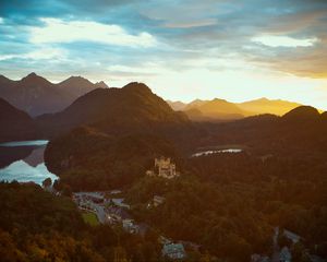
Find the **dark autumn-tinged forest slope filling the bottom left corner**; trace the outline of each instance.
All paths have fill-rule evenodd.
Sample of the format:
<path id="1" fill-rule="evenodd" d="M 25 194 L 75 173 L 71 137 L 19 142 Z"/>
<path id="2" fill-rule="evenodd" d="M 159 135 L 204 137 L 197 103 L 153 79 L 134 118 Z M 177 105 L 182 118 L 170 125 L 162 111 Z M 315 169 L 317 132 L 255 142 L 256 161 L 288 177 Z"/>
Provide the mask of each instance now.
<path id="1" fill-rule="evenodd" d="M 158 261 L 154 235 L 90 227 L 66 196 L 34 183 L 0 183 L 0 258 L 3 262 Z M 119 260 L 118 260 L 119 259 Z"/>

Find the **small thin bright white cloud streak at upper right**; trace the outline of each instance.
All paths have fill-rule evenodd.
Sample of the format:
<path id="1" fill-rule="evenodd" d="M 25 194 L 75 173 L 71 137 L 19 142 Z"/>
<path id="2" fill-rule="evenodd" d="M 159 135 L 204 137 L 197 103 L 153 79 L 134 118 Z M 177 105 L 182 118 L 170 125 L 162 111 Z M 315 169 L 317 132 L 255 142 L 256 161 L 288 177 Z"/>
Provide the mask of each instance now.
<path id="1" fill-rule="evenodd" d="M 269 47 L 310 47 L 317 41 L 317 38 L 296 39 L 289 36 L 263 35 L 253 37 L 252 41 Z"/>

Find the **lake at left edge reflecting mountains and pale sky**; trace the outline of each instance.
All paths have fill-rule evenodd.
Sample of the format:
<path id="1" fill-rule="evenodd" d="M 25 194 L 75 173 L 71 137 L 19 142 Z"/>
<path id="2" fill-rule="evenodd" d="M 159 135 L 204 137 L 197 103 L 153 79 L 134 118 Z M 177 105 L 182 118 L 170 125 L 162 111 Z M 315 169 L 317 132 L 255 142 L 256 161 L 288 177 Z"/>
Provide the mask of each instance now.
<path id="1" fill-rule="evenodd" d="M 47 140 L 0 143 L 0 180 L 41 184 L 48 177 L 58 179 L 44 162 L 47 144 Z"/>

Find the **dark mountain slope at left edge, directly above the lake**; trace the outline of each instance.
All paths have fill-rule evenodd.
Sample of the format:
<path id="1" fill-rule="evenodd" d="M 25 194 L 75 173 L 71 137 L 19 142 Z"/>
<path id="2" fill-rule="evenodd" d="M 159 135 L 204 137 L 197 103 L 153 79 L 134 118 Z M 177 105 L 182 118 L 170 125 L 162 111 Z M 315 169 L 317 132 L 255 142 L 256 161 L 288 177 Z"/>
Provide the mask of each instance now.
<path id="1" fill-rule="evenodd" d="M 2 98 L 0 98 L 0 142 L 32 140 L 37 136 L 34 120 Z"/>

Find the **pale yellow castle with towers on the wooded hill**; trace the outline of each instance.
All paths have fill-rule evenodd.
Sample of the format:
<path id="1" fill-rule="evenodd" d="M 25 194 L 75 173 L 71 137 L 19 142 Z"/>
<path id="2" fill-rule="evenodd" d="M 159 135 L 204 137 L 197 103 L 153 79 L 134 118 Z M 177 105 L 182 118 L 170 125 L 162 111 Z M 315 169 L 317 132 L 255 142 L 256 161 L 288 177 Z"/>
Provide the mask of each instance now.
<path id="1" fill-rule="evenodd" d="M 161 156 L 155 159 L 155 170 L 147 170 L 147 176 L 158 176 L 167 179 L 178 177 L 180 174 L 175 170 L 175 164 L 168 157 Z"/>

